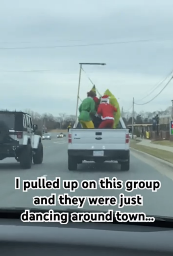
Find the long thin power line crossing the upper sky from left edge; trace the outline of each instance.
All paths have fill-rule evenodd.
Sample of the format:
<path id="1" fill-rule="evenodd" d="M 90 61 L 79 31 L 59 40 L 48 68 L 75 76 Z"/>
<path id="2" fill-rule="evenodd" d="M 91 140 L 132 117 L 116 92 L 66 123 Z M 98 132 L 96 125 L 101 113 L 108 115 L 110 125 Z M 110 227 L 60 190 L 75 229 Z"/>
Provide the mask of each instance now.
<path id="1" fill-rule="evenodd" d="M 54 48 L 70 48 L 70 47 L 85 47 L 85 46 L 103 46 L 111 44 L 131 44 L 131 43 L 151 42 L 151 40 L 135 40 L 122 42 L 108 43 L 93 43 L 93 44 L 74 44 L 74 45 L 58 45 L 58 46 L 25 46 L 25 47 L 0 47 L 0 50 L 27 50 L 27 49 L 54 49 Z"/>

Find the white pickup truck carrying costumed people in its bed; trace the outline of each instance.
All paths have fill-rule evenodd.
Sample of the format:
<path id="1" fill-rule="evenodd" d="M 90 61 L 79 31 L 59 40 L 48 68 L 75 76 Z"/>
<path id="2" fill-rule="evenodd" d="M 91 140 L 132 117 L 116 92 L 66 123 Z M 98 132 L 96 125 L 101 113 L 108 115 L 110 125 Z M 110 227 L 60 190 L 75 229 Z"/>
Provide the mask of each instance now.
<path id="1" fill-rule="evenodd" d="M 96 163 L 117 161 L 121 164 L 121 170 L 129 170 L 129 129 L 126 128 L 122 118 L 119 120 L 117 129 L 72 128 L 69 130 L 69 171 L 77 170 L 77 164 L 82 164 L 83 160 Z"/>

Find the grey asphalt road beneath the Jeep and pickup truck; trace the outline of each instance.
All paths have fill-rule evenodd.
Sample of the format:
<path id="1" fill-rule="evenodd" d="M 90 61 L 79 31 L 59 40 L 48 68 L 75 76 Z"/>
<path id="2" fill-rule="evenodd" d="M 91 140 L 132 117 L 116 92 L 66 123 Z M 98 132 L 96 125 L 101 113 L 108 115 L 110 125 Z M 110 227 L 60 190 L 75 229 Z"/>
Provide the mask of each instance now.
<path id="1" fill-rule="evenodd" d="M 131 167 L 129 171 L 121 171 L 116 163 L 104 163 L 96 166 L 94 163 L 79 165 L 79 170 L 71 172 L 67 168 L 67 137 L 57 139 L 54 135 L 52 140 L 43 141 L 44 162 L 42 165 L 34 165 L 31 170 L 21 170 L 19 163 L 15 159 L 4 159 L 0 162 L 0 206 L 3 207 L 33 207 L 34 196 L 50 196 L 51 193 L 69 193 L 71 196 L 115 196 L 119 198 L 120 193 L 128 196 L 140 194 L 143 196 L 143 206 L 125 206 L 118 209 L 118 206 L 89 206 L 85 203 L 83 209 L 102 210 L 108 209 L 121 210 L 121 212 L 145 212 L 146 214 L 173 216 L 173 171 L 171 168 L 152 162 L 146 157 L 141 157 L 137 153 L 131 152 Z M 15 177 L 22 180 L 35 180 L 38 177 L 54 180 L 60 177 L 61 180 L 99 180 L 104 177 L 117 177 L 123 180 L 160 180 L 161 188 L 157 192 L 150 190 L 134 190 L 126 192 L 122 190 L 83 190 L 77 189 L 70 192 L 60 190 L 15 190 Z M 76 206 L 43 206 L 44 208 L 62 209 L 76 208 Z"/>

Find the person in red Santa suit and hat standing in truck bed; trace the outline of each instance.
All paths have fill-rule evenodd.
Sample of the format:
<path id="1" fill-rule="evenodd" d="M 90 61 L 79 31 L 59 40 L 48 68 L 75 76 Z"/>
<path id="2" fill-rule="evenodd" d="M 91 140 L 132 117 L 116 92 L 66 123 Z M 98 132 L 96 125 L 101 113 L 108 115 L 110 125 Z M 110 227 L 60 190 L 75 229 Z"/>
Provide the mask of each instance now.
<path id="1" fill-rule="evenodd" d="M 117 112 L 117 108 L 109 103 L 108 98 L 108 95 L 104 95 L 98 106 L 97 113 L 102 116 L 102 122 L 98 128 L 113 128 L 114 113 Z"/>

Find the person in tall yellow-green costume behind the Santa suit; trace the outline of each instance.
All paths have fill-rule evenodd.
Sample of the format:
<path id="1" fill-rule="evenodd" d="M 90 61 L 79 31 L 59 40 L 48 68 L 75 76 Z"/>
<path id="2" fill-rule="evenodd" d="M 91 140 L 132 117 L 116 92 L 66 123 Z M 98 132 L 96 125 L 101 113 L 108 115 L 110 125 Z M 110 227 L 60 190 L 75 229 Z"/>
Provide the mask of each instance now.
<path id="1" fill-rule="evenodd" d="M 110 104 L 113 105 L 115 108 L 117 108 L 117 112 L 114 114 L 114 125 L 113 125 L 113 128 L 117 128 L 117 126 L 119 124 L 119 119 L 121 117 L 119 103 L 118 103 L 117 99 L 115 98 L 115 96 L 110 92 L 110 90 L 107 89 L 104 92 L 104 95 L 108 95 Z"/>

